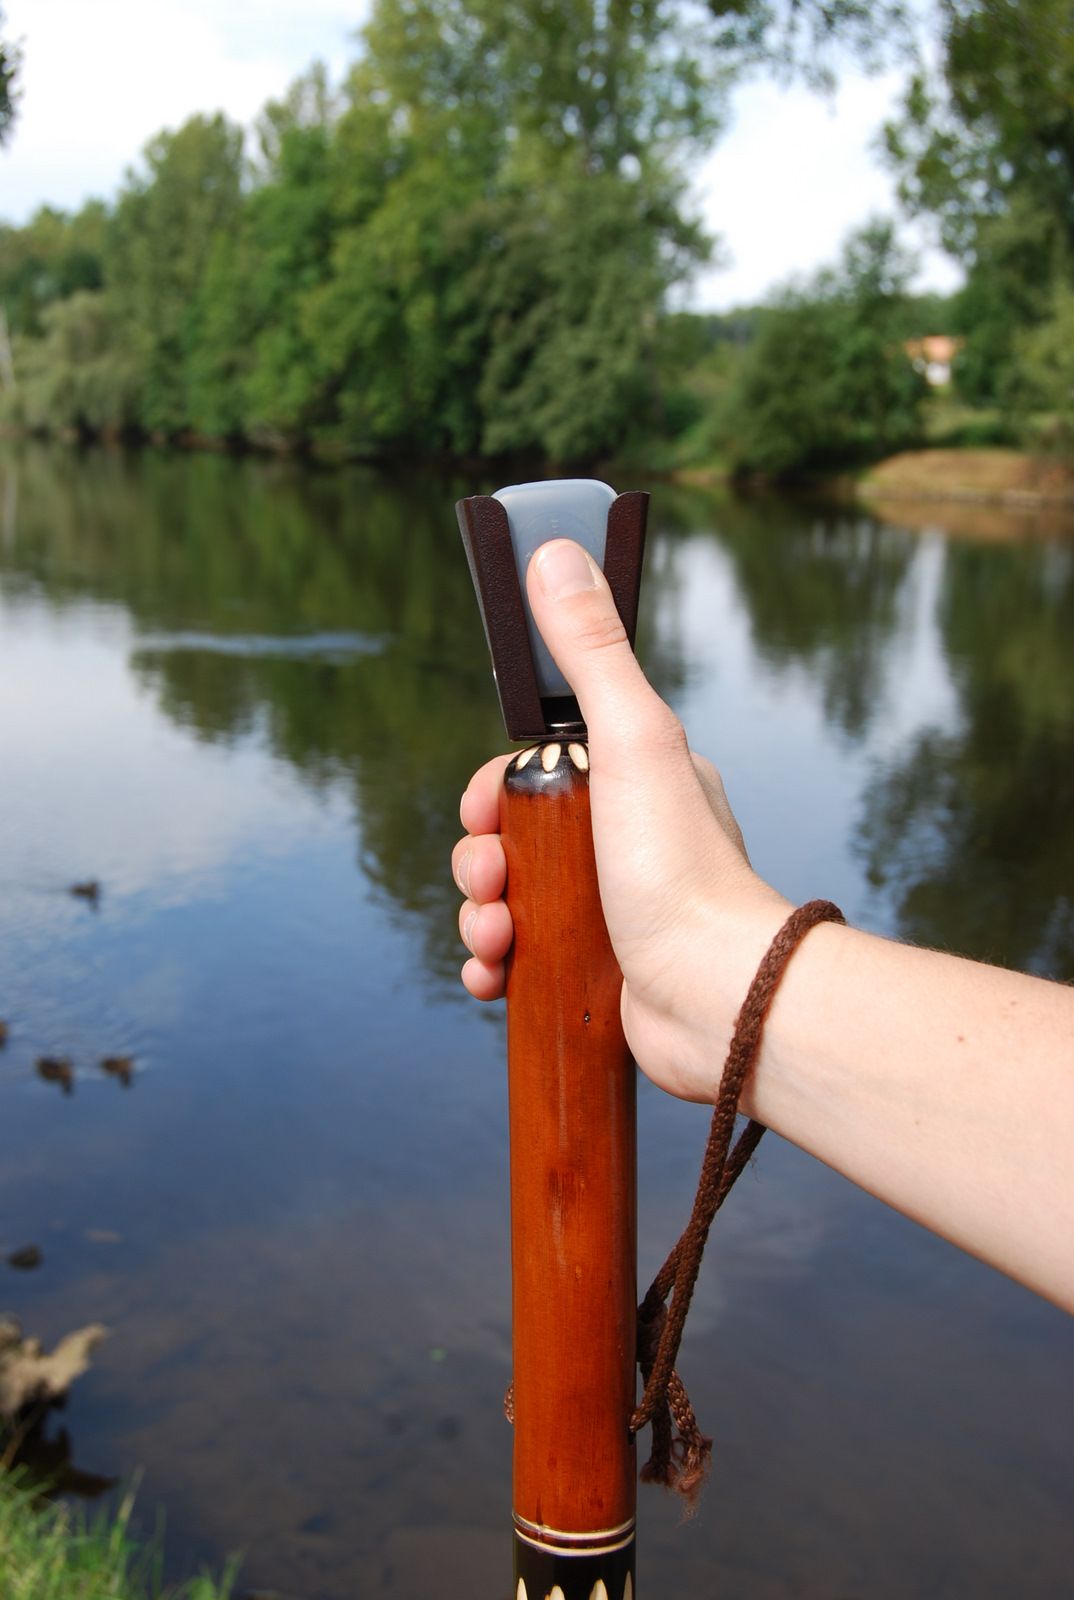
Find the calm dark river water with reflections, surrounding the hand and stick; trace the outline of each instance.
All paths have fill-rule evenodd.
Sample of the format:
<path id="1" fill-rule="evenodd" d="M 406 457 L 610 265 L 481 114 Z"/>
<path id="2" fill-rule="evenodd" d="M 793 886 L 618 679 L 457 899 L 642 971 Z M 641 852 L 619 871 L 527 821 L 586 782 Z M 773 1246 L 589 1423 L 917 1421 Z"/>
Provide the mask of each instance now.
<path id="1" fill-rule="evenodd" d="M 0 456 L 0 1246 L 43 1250 L 0 1309 L 112 1330 L 50 1438 L 144 1469 L 176 1574 L 509 1589 L 503 1019 L 447 867 L 503 742 L 477 486 Z M 661 490 L 640 650 L 791 898 L 1071 979 L 1074 538 L 994 534 Z M 643 1086 L 642 1274 L 706 1122 Z M 682 1368 L 715 1469 L 685 1526 L 642 1491 L 650 1600 L 1074 1592 L 1074 1326 L 775 1139 Z"/>

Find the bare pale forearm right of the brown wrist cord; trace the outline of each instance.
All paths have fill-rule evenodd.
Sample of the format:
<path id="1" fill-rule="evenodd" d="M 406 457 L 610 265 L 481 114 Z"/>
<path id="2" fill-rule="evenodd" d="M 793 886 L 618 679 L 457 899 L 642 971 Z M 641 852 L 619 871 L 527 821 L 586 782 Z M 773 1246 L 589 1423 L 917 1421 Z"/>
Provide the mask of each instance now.
<path id="1" fill-rule="evenodd" d="M 1074 1310 L 1074 990 L 816 928 L 743 1109 Z"/>

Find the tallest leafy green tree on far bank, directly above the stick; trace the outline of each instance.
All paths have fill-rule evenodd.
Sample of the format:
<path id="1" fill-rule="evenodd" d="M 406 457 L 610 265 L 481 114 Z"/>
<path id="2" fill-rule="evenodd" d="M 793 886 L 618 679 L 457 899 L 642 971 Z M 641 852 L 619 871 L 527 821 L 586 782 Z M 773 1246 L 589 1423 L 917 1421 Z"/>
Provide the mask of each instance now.
<path id="1" fill-rule="evenodd" d="M 714 126 L 703 19 L 666 0 L 381 0 L 307 323 L 351 442 L 621 443 L 664 291 L 703 253 L 672 176 Z"/>

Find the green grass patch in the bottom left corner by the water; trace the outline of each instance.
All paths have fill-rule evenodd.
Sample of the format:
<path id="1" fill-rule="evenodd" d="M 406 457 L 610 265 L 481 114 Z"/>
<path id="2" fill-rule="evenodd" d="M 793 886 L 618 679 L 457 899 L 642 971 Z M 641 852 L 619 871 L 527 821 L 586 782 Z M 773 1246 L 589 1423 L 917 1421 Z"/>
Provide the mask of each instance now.
<path id="1" fill-rule="evenodd" d="M 0 1600 L 230 1600 L 237 1563 L 165 1587 L 157 1546 L 131 1534 L 133 1506 L 130 1490 L 114 1514 L 90 1518 L 42 1502 L 18 1472 L 0 1475 Z"/>

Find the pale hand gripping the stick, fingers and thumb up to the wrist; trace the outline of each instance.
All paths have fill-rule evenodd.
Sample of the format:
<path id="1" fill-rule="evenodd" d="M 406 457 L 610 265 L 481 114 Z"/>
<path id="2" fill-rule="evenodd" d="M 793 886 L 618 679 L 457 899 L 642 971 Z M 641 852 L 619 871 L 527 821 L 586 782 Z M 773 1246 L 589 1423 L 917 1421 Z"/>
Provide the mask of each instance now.
<path id="1" fill-rule="evenodd" d="M 599 566 L 555 539 L 533 557 L 527 586 L 589 728 L 597 878 L 623 971 L 627 1043 L 661 1088 L 709 1101 L 738 1005 L 791 907 L 752 870 L 720 774 L 690 752 L 679 718 L 645 680 Z M 512 938 L 499 842 L 509 760 L 496 757 L 471 779 L 467 837 L 451 858 L 472 952 L 463 982 L 479 1000 L 504 992 Z"/>

